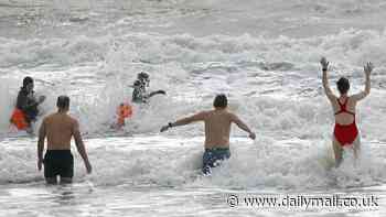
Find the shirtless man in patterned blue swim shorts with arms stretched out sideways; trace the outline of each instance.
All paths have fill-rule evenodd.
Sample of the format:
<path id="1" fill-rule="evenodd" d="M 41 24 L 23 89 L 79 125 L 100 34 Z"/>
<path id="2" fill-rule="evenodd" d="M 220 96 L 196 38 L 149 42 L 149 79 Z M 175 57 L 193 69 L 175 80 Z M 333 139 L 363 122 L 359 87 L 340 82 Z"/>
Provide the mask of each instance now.
<path id="1" fill-rule="evenodd" d="M 194 116 L 180 119 L 161 128 L 161 132 L 169 128 L 184 126 L 196 121 L 205 122 L 205 152 L 203 155 L 204 174 L 211 173 L 211 167 L 218 165 L 219 161 L 230 158 L 229 133 L 230 124 L 234 122 L 240 129 L 249 133 L 249 138 L 255 140 L 256 134 L 234 113 L 227 110 L 227 98 L 225 95 L 217 95 L 214 99 L 214 109 L 202 111 Z"/>

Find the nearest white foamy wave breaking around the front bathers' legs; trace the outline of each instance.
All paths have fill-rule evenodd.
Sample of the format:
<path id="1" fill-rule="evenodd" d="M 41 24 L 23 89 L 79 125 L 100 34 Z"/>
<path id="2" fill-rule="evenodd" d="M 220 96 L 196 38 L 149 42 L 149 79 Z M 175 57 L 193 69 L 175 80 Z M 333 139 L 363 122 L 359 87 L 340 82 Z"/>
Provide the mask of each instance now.
<path id="1" fill-rule="evenodd" d="M 335 169 L 326 140 L 285 142 L 267 137 L 260 137 L 256 142 L 242 138 L 234 140 L 230 160 L 214 169 L 211 176 L 202 176 L 201 139 L 137 137 L 87 140 L 94 173 L 85 175 L 82 159 L 74 150 L 75 182 L 87 180 L 99 187 L 131 184 L 317 191 L 373 186 L 386 178 L 383 173 L 385 156 L 375 151 L 382 147 L 369 149 L 369 144 L 364 143 L 358 162 L 354 162 L 349 150 L 343 164 Z M 1 184 L 43 180 L 36 171 L 35 142 L 23 139 L 1 145 Z"/>

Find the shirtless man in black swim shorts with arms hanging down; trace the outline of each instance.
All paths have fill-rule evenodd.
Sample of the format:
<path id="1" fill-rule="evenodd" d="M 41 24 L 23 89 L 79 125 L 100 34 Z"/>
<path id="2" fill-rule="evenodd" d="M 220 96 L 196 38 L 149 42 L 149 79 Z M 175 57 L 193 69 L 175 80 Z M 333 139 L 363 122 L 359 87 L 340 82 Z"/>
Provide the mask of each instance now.
<path id="1" fill-rule="evenodd" d="M 39 130 L 37 169 L 44 163 L 44 177 L 47 184 L 56 184 L 56 176 L 61 176 L 61 184 L 72 183 L 74 175 L 74 159 L 71 153 L 71 139 L 74 137 L 77 151 L 85 163 L 87 173 L 92 173 L 79 126 L 76 119 L 69 117 L 69 98 L 57 98 L 57 112 L 44 118 Z M 44 140 L 47 138 L 47 151 L 43 160 Z"/>

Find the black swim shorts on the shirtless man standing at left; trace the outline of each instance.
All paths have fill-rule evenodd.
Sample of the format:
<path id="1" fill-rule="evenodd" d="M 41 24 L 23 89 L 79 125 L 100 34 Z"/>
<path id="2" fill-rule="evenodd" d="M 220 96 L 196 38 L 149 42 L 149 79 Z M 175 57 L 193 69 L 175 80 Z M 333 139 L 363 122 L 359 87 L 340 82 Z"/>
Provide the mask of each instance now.
<path id="1" fill-rule="evenodd" d="M 47 150 L 44 155 L 44 177 L 73 177 L 74 158 L 69 150 Z"/>

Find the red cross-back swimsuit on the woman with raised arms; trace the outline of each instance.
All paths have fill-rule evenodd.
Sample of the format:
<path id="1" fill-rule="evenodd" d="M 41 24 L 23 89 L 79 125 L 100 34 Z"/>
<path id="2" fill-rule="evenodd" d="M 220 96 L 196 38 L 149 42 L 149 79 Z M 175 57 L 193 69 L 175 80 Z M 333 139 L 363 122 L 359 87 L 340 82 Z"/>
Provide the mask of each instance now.
<path id="1" fill-rule="evenodd" d="M 349 101 L 349 97 L 346 98 L 346 100 L 344 101 L 343 105 L 337 99 L 337 104 L 341 107 L 341 110 L 335 113 L 335 116 L 336 116 L 339 113 L 345 112 L 345 113 L 353 115 L 353 117 L 354 117 L 354 121 L 350 124 L 346 124 L 346 126 L 339 124 L 335 122 L 334 135 L 335 135 L 335 139 L 339 141 L 339 143 L 341 143 L 342 147 L 352 144 L 358 134 L 356 123 L 355 123 L 355 113 L 353 113 L 346 109 L 347 101 Z"/>

